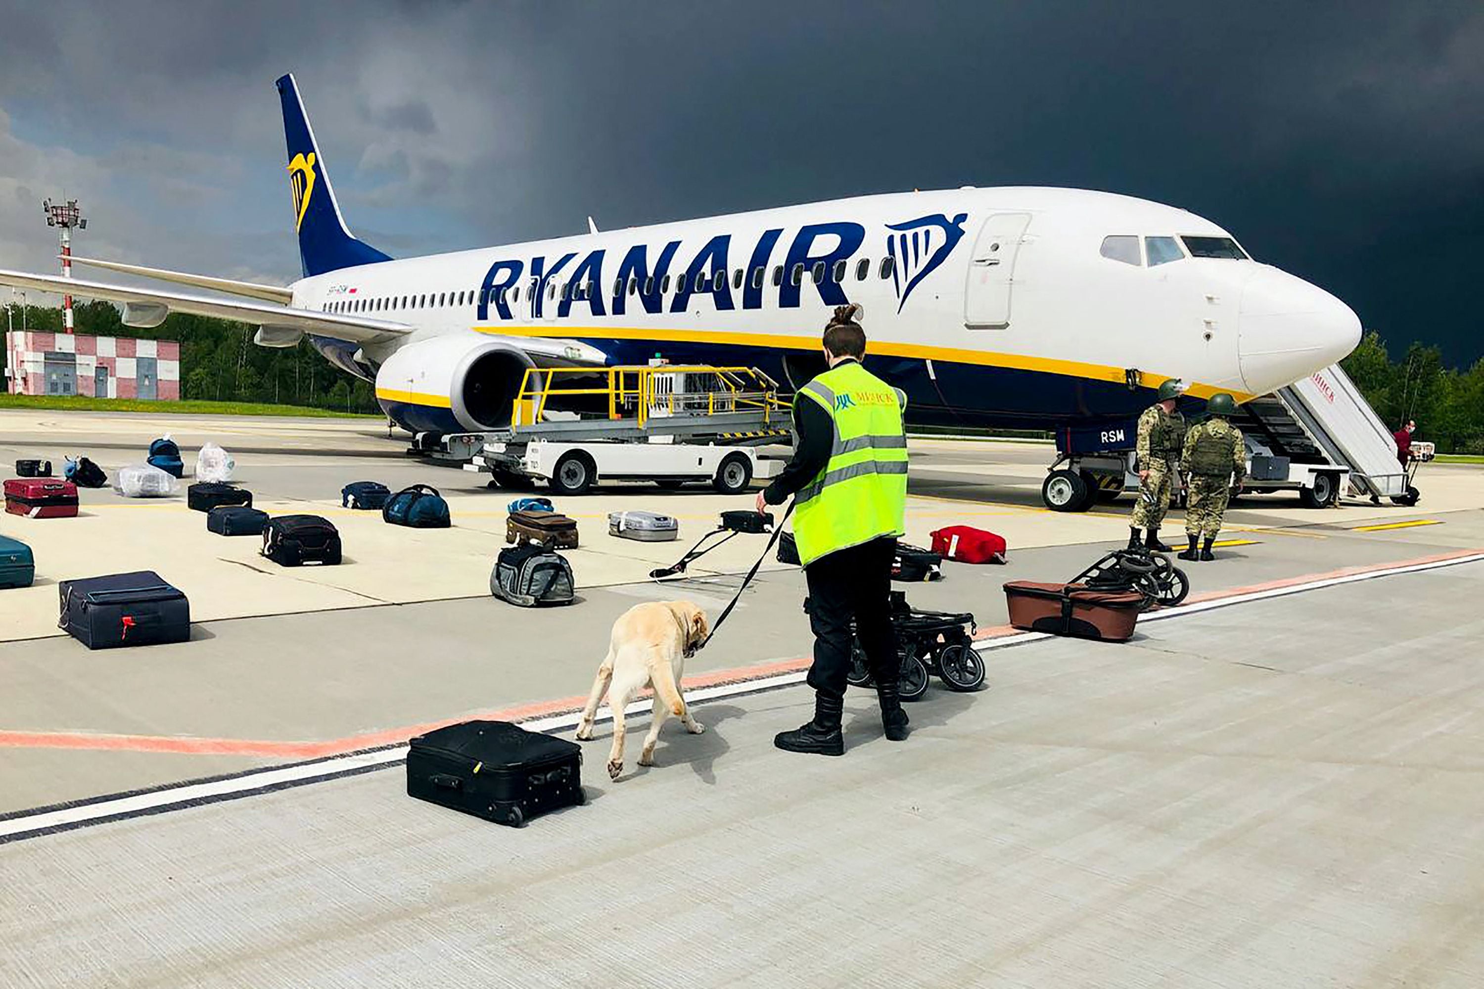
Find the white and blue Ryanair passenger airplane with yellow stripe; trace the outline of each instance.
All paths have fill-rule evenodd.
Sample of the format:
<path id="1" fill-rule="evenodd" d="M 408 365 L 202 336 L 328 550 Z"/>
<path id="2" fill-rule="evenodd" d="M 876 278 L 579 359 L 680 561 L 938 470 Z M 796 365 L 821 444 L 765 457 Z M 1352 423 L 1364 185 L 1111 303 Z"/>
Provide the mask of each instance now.
<path id="1" fill-rule="evenodd" d="M 304 278 L 282 288 L 74 258 L 218 300 L 0 272 L 0 284 L 306 336 L 414 431 L 508 423 L 531 367 L 755 365 L 798 386 L 831 307 L 865 307 L 867 365 L 925 425 L 1126 419 L 1169 377 L 1245 401 L 1349 353 L 1361 324 L 1184 209 L 1071 189 L 861 196 L 392 260 L 353 238 L 292 76 L 278 80 Z"/>

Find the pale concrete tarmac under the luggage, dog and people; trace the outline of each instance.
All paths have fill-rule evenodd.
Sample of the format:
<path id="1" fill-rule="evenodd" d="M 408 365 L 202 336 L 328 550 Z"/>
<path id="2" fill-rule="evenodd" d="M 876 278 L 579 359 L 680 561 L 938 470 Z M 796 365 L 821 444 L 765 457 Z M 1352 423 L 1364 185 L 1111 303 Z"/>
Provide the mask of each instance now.
<path id="1" fill-rule="evenodd" d="M 47 582 L 0 593 L 3 986 L 1484 983 L 1484 471 L 1429 465 L 1413 509 L 1242 499 L 1192 603 L 1113 646 L 1009 634 L 1000 584 L 1073 578 L 1126 538 L 1128 499 L 1048 512 L 1045 447 L 914 443 L 911 538 L 1011 544 L 905 588 L 976 615 L 987 691 L 935 683 L 901 745 L 852 692 L 844 759 L 776 751 L 809 716 L 810 637 L 775 564 L 687 665 L 709 731 L 668 725 L 650 769 L 631 737 L 610 783 L 600 725 L 591 805 L 515 832 L 410 800 L 401 742 L 473 714 L 570 737 L 619 613 L 720 613 L 764 538 L 643 575 L 749 499 L 564 499 L 583 600 L 531 612 L 485 588 L 509 494 L 375 420 L 46 416 L 0 413 L 0 457 L 113 472 L 166 428 L 187 463 L 212 438 L 355 563 L 280 572 L 183 496 L 0 517 Z M 362 477 L 435 484 L 456 527 L 331 509 Z M 680 544 L 610 539 L 622 508 L 680 515 Z M 190 643 L 58 636 L 50 582 L 141 566 L 191 595 Z"/>

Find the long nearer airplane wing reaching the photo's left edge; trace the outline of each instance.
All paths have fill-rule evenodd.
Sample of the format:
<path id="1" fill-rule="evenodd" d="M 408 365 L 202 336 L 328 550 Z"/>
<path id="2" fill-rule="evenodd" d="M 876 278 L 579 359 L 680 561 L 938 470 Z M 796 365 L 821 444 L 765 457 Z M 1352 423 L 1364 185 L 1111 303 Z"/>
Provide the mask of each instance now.
<path id="1" fill-rule="evenodd" d="M 131 325 L 156 327 L 163 322 L 169 312 L 188 312 L 197 316 L 251 322 L 263 327 L 258 342 L 270 346 L 292 346 L 298 342 L 298 333 L 312 333 L 318 337 L 332 337 L 335 340 L 346 340 L 347 343 L 386 343 L 413 331 L 413 327 L 408 324 L 390 319 L 315 312 L 264 301 L 230 301 L 208 298 L 205 296 L 187 296 L 184 293 L 107 285 L 77 278 L 61 278 L 59 275 L 31 275 L 0 269 L 0 285 L 123 303 L 125 321 L 129 322 L 129 316 L 134 316 Z M 270 343 L 272 340 L 279 340 L 280 343 Z"/>

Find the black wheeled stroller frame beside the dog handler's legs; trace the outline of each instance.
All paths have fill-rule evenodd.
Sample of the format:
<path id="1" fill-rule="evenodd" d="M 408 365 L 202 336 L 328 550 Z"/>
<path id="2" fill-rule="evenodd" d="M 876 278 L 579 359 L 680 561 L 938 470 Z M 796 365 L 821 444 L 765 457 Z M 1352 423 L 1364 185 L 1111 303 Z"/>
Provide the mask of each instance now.
<path id="1" fill-rule="evenodd" d="M 804 600 L 809 610 L 809 600 Z M 978 691 L 984 685 L 984 659 L 974 649 L 974 615 L 925 612 L 907 603 L 904 591 L 892 591 L 892 631 L 902 661 L 904 701 L 922 699 L 928 679 L 936 676 L 950 691 Z M 871 665 L 859 639 L 850 642 L 850 686 L 873 686 Z"/>

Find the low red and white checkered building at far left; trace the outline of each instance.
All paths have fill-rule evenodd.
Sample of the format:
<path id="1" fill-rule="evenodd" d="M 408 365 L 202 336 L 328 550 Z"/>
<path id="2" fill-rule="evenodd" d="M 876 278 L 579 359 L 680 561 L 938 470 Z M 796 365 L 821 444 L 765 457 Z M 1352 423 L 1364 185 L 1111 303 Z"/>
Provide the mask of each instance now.
<path id="1" fill-rule="evenodd" d="M 180 401 L 177 340 L 19 331 L 4 337 L 12 395 Z"/>

